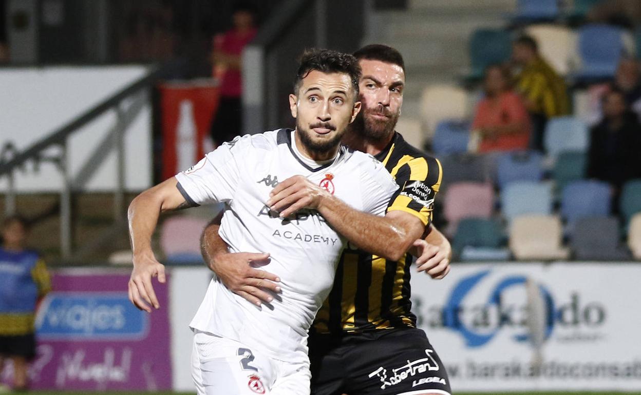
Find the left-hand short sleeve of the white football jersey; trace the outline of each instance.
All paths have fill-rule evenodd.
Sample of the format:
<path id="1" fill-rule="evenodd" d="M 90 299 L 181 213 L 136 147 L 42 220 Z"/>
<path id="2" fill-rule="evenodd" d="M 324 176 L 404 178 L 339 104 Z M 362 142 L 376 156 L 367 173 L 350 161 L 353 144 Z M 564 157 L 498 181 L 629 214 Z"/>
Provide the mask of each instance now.
<path id="1" fill-rule="evenodd" d="M 240 157 L 250 136 L 237 137 L 208 153 L 196 165 L 176 174 L 178 189 L 192 205 L 231 202 L 238 188 Z"/>

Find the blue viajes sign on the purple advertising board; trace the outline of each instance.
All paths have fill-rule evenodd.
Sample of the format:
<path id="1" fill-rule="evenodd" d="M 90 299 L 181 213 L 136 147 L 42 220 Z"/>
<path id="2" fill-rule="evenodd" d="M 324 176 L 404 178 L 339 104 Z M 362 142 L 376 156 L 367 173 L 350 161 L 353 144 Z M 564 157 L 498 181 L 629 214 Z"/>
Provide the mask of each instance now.
<path id="1" fill-rule="evenodd" d="M 36 323 L 42 339 L 134 340 L 146 336 L 149 318 L 127 293 L 52 293 Z"/>

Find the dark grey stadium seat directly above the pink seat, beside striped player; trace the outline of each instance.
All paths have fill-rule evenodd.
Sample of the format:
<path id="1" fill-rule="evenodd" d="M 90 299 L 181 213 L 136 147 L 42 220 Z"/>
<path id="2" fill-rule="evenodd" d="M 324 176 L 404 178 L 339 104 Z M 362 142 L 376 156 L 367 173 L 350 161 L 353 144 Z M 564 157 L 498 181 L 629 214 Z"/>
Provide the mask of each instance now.
<path id="1" fill-rule="evenodd" d="M 486 157 L 473 154 L 450 154 L 439 158 L 443 172 L 440 192 L 444 195 L 447 188 L 456 182 L 487 182 L 490 179 Z M 445 170 L 447 169 L 447 170 Z"/>

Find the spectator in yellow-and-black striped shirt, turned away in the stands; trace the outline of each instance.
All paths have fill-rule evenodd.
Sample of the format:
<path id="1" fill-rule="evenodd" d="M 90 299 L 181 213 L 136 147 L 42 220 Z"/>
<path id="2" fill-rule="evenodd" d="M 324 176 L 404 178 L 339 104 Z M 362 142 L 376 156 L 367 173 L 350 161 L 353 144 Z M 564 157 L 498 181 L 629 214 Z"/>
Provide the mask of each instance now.
<path id="1" fill-rule="evenodd" d="M 530 147 L 542 151 L 547 120 L 569 113 L 567 87 L 562 77 L 540 56 L 537 42 L 530 36 L 517 38 L 512 58 L 520 67 L 516 89 L 532 122 Z"/>

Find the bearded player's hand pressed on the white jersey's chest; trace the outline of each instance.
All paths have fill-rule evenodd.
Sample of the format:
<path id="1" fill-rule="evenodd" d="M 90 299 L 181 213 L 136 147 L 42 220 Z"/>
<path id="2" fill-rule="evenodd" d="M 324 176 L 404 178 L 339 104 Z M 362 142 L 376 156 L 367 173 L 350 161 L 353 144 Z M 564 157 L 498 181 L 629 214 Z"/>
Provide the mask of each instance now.
<path id="1" fill-rule="evenodd" d="M 290 216 L 300 209 L 317 209 L 328 191 L 309 181 L 302 175 L 294 175 L 280 182 L 272 189 L 267 206 L 280 213 L 281 218 Z"/>

